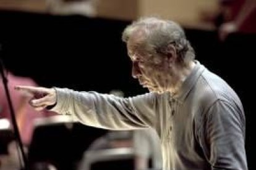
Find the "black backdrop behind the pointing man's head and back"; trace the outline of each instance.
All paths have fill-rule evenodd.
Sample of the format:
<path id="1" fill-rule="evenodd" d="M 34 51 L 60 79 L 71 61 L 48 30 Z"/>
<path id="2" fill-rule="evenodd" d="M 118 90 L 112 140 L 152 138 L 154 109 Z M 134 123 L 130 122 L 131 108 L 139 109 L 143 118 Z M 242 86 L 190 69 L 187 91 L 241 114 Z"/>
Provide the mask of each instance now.
<path id="1" fill-rule="evenodd" d="M 129 23 L 80 15 L 0 11 L 0 55 L 15 75 L 29 76 L 40 86 L 103 93 L 121 89 L 126 96 L 142 94 L 146 90 L 132 78 L 126 46 L 121 41 L 122 30 Z M 256 36 L 231 34 L 221 42 L 215 31 L 185 30 L 197 60 L 224 78 L 241 97 L 247 123 L 247 160 L 249 169 L 255 169 L 252 136 Z M 72 144 L 75 142 L 72 140 Z M 79 145 L 69 147 L 79 150 Z"/>

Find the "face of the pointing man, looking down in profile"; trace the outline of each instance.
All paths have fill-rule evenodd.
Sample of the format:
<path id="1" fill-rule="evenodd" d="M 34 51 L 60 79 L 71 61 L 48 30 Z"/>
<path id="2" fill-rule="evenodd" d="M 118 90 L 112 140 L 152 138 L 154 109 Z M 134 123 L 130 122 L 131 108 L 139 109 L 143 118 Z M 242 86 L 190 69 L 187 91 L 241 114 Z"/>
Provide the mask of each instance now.
<path id="1" fill-rule="evenodd" d="M 143 47 L 140 34 L 133 34 L 127 41 L 127 51 L 132 60 L 132 76 L 151 92 L 163 92 L 168 87 L 168 63 L 164 57 Z"/>

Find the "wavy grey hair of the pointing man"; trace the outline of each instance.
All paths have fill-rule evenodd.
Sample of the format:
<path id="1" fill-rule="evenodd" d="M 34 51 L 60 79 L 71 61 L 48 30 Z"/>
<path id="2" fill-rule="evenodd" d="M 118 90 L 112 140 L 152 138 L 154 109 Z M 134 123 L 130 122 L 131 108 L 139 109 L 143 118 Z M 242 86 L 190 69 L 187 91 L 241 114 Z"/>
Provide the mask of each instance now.
<path id="1" fill-rule="evenodd" d="M 144 43 L 150 50 L 158 54 L 166 54 L 166 47 L 173 44 L 176 48 L 181 63 L 194 60 L 195 52 L 187 40 L 184 30 L 171 20 L 161 20 L 156 17 L 140 18 L 128 25 L 122 33 L 122 41 L 127 42 L 134 31 L 145 32 Z"/>

